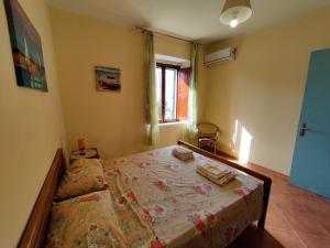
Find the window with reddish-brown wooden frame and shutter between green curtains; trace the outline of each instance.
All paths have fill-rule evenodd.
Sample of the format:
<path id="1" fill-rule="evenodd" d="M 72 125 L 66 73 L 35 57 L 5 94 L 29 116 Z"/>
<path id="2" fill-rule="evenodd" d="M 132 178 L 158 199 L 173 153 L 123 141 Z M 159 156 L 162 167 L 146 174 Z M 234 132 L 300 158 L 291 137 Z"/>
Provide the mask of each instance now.
<path id="1" fill-rule="evenodd" d="M 187 119 L 189 79 L 190 68 L 157 63 L 156 88 L 160 122 Z"/>

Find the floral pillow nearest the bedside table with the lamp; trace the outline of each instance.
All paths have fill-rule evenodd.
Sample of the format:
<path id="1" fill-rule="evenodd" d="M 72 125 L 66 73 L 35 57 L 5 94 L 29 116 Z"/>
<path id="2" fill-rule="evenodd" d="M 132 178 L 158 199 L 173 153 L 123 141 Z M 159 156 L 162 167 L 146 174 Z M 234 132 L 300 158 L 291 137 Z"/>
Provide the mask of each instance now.
<path id="1" fill-rule="evenodd" d="M 77 160 L 65 170 L 57 190 L 56 200 L 62 201 L 76 197 L 103 190 L 106 186 L 103 169 L 99 160 Z"/>

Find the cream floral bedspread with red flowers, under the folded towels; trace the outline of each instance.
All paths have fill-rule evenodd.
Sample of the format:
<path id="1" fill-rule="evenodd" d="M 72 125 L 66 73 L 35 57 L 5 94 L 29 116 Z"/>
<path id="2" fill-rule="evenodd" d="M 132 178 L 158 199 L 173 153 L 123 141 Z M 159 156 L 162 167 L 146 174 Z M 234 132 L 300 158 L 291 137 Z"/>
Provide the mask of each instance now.
<path id="1" fill-rule="evenodd" d="M 262 183 L 238 172 L 220 187 L 195 171 L 197 164 L 220 162 L 198 153 L 183 162 L 172 155 L 173 148 L 103 162 L 121 228 L 134 236 L 140 223 L 155 237 L 152 248 L 226 247 L 260 218 Z"/>

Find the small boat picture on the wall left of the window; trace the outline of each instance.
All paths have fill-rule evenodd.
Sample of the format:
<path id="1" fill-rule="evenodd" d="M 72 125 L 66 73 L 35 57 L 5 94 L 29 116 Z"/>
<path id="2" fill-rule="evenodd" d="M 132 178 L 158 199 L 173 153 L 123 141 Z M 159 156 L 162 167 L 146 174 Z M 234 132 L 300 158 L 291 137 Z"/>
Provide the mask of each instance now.
<path id="1" fill-rule="evenodd" d="M 120 82 L 120 69 L 96 66 L 96 84 L 97 90 L 100 91 L 120 91 L 121 82 Z"/>

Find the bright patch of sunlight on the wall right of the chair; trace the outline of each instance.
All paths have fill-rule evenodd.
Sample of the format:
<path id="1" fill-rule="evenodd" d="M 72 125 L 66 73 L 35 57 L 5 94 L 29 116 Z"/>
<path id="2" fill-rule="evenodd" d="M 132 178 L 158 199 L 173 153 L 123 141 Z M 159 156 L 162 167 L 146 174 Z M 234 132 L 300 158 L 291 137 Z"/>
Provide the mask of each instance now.
<path id="1" fill-rule="evenodd" d="M 230 149 L 239 154 L 239 162 L 246 163 L 249 162 L 253 137 L 238 119 L 233 130 Z"/>

